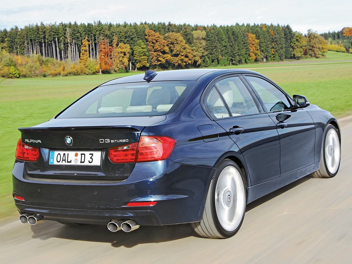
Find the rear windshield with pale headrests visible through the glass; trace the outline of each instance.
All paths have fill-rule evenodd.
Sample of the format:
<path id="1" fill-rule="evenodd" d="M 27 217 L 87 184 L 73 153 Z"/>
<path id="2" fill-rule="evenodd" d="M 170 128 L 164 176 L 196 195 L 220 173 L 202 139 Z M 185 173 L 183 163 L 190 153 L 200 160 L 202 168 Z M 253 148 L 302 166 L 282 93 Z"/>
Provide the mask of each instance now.
<path id="1" fill-rule="evenodd" d="M 175 112 L 195 82 L 123 83 L 98 87 L 57 118 L 139 117 Z"/>

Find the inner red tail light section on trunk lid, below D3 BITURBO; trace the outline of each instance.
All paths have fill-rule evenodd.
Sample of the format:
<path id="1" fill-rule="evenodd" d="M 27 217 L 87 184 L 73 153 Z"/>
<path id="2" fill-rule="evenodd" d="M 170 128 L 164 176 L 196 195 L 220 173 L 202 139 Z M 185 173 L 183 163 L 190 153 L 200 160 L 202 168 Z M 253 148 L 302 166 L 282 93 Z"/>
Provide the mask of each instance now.
<path id="1" fill-rule="evenodd" d="M 109 159 L 112 163 L 136 162 L 138 142 L 109 148 Z"/>

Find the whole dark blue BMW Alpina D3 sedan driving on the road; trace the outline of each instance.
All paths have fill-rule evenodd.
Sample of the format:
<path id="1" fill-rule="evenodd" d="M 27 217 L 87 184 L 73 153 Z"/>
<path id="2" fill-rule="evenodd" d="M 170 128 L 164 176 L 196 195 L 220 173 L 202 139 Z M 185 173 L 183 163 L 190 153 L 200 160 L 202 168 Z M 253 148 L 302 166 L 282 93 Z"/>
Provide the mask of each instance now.
<path id="1" fill-rule="evenodd" d="M 228 238 L 246 204 L 340 166 L 337 120 L 242 69 L 146 71 L 94 88 L 43 124 L 19 128 L 20 221 L 192 223 Z"/>

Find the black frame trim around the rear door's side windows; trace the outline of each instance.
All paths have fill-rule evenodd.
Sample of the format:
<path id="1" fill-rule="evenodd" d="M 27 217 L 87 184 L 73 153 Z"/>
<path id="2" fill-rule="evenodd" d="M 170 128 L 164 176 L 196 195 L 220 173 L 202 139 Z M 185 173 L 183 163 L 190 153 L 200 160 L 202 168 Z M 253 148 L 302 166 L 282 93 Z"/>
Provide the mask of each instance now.
<path id="1" fill-rule="evenodd" d="M 260 101 L 258 100 L 256 94 L 254 94 L 254 91 L 252 89 L 251 86 L 249 86 L 249 84 L 247 84 L 246 81 L 244 81 L 244 79 L 242 78 L 242 75 L 244 75 L 243 73 L 226 73 L 226 74 L 223 74 L 223 75 L 220 75 L 220 76 L 216 76 L 212 81 L 210 81 L 208 83 L 208 85 L 206 86 L 206 88 L 203 90 L 203 93 L 200 97 L 200 105 L 201 105 L 201 108 L 203 109 L 203 111 L 206 113 L 206 115 L 213 121 L 216 121 L 216 120 L 222 120 L 222 119 L 228 119 L 228 118 L 238 118 L 238 117 L 249 117 L 249 116 L 252 116 L 252 115 L 258 115 L 258 114 L 264 114 L 265 111 L 264 111 L 264 108 L 263 106 L 261 105 Z M 254 75 L 254 74 L 253 74 Z M 257 75 L 254 75 L 254 76 L 257 76 Z M 250 95 L 252 96 L 252 99 L 254 101 L 254 104 L 256 105 L 256 107 L 258 108 L 258 113 L 255 113 L 255 114 L 246 114 L 246 115 L 235 115 L 233 116 L 231 111 L 229 110 L 228 108 L 228 105 L 226 103 L 226 101 L 224 100 L 222 94 L 219 92 L 218 88 L 216 88 L 216 83 L 221 81 L 221 80 L 224 80 L 226 78 L 231 78 L 231 77 L 239 77 L 240 80 L 242 81 L 242 83 L 244 84 L 244 86 L 247 88 L 248 92 L 250 93 Z M 209 114 L 208 112 L 208 109 L 206 108 L 206 98 L 209 94 L 209 91 L 215 87 L 216 90 L 218 91 L 219 95 L 220 95 L 220 98 L 222 100 L 222 102 L 225 104 L 226 108 L 227 108 L 227 111 L 229 112 L 229 116 L 228 117 L 223 117 L 223 118 L 213 118 L 211 114 Z"/>

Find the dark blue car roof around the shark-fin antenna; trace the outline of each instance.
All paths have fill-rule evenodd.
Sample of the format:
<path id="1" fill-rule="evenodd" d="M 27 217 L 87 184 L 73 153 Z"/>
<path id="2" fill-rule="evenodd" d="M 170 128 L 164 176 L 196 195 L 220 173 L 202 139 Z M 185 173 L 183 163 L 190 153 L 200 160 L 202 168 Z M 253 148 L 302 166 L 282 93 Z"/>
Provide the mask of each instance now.
<path id="1" fill-rule="evenodd" d="M 158 71 L 157 75 L 153 78 L 155 81 L 197 81 L 201 76 L 211 73 L 214 71 L 221 71 L 221 73 L 226 72 L 252 72 L 250 70 L 244 69 L 186 69 L 186 70 L 168 70 L 168 71 Z M 220 74 L 220 73 L 219 73 Z M 108 81 L 102 85 L 117 84 L 117 83 L 128 83 L 128 82 L 145 82 L 143 80 L 143 74 L 131 75 L 126 77 L 117 78 Z"/>

